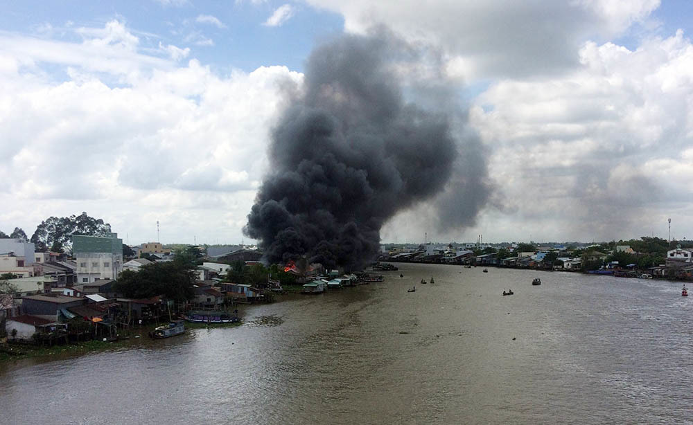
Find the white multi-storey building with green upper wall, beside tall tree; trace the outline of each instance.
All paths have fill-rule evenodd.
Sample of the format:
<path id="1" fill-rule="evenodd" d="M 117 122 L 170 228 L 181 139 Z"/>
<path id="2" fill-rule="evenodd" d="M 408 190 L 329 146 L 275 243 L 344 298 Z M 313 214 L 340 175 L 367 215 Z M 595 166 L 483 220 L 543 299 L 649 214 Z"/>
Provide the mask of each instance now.
<path id="1" fill-rule="evenodd" d="M 123 271 L 123 239 L 116 233 L 106 237 L 72 236 L 72 250 L 77 259 L 77 282 L 117 279 Z"/>

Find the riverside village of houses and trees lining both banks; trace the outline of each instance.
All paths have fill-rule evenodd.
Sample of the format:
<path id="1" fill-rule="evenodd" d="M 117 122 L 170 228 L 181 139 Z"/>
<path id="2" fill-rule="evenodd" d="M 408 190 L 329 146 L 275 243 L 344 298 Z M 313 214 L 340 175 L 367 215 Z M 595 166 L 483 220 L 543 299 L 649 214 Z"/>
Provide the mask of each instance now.
<path id="1" fill-rule="evenodd" d="M 658 237 L 484 244 L 480 235 L 470 243 L 383 244 L 356 271 L 306 259 L 267 266 L 256 246 L 128 246 L 110 228 L 99 233 L 71 234 L 50 248 L 23 231 L 0 239 L 0 360 L 166 338 L 186 326 L 240 325 L 243 305 L 382 282 L 379 272 L 399 262 L 693 280 L 693 243 Z"/>

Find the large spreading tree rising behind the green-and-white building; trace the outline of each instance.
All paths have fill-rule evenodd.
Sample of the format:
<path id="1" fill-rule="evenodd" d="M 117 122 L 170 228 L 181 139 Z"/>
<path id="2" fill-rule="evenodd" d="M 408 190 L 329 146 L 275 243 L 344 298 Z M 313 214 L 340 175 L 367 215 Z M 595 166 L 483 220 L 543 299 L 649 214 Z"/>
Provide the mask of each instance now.
<path id="1" fill-rule="evenodd" d="M 87 213 L 70 217 L 49 217 L 41 222 L 31 236 L 37 251 L 62 252 L 72 250 L 72 235 L 106 236 L 111 225 L 102 219 L 89 217 Z"/>

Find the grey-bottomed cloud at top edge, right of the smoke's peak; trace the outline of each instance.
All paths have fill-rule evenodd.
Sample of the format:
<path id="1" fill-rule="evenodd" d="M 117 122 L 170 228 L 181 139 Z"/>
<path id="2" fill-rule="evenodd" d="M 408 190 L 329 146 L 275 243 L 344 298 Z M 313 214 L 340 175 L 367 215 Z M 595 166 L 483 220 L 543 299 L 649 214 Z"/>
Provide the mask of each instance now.
<path id="1" fill-rule="evenodd" d="M 611 37 L 646 19 L 658 0 L 306 0 L 344 16 L 351 33 L 385 24 L 443 49 L 465 81 L 554 75 L 577 65 L 587 37 Z"/>

